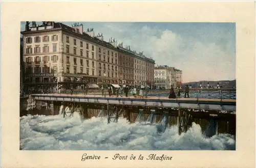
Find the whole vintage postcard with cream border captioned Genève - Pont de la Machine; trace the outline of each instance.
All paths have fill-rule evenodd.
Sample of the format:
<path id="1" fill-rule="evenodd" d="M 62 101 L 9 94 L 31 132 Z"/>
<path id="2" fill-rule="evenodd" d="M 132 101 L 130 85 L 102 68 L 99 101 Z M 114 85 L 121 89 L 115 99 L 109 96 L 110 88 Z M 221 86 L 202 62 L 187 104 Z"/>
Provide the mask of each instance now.
<path id="1" fill-rule="evenodd" d="M 4 3 L 3 9 L 6 11 L 17 4 L 28 8 L 27 3 Z M 58 7 L 57 11 L 63 7 L 59 3 L 31 3 L 31 6 L 47 8 L 50 4 L 51 8 Z M 248 9 L 253 14 L 254 8 L 250 7 L 253 3 L 237 3 L 242 6 L 212 3 L 212 10 L 220 10 L 218 6 L 225 8 L 222 12 L 227 12 L 228 17 L 218 12 L 208 13 L 207 17 L 201 8 L 202 13 L 187 8 L 195 15 L 192 19 L 188 19 L 189 12 L 173 19 L 168 15 L 174 11 L 166 10 L 163 15 L 161 8 L 165 5 L 174 8 L 173 3 L 167 2 L 69 4 L 71 8 L 63 9 L 76 11 L 75 6 L 91 6 L 99 10 L 96 5 L 99 4 L 106 12 L 117 6 L 125 12 L 122 17 L 116 15 L 118 12 L 114 12 L 114 16 L 101 13 L 99 17 L 79 10 L 79 17 L 75 13 L 50 17 L 33 8 L 20 13 L 11 26 L 15 26 L 15 36 L 9 36 L 16 39 L 15 45 L 19 46 L 9 54 L 14 55 L 13 66 L 17 66 L 14 69 L 19 72 L 11 74 L 19 80 L 12 81 L 15 90 L 2 85 L 3 90 L 13 93 L 9 94 L 13 101 L 19 102 L 13 111 L 13 116 L 18 118 L 13 137 L 19 147 L 12 147 L 19 156 L 16 165 L 7 164 L 5 156 L 3 167 L 67 166 L 68 160 L 58 159 L 72 153 L 71 167 L 96 164 L 111 167 L 126 163 L 129 167 L 139 164 L 141 167 L 168 167 L 170 164 L 193 167 L 194 162 L 181 163 L 191 161 L 182 155 L 205 155 L 207 160 L 216 155 L 223 162 L 217 165 L 211 160 L 207 164 L 196 163 L 196 167 L 234 166 L 237 165 L 231 161 L 234 156 L 245 157 L 247 165 L 240 166 L 250 167 L 250 163 L 254 163 L 252 141 L 255 139 L 246 131 L 255 130 L 255 107 L 242 104 L 245 97 L 249 104 L 255 103 L 255 89 L 251 87 L 255 86 L 255 46 L 243 47 L 243 43 L 255 44 L 255 27 L 251 23 L 255 23 L 254 17 L 243 12 Z M 139 4 L 141 11 L 135 12 L 139 19 L 129 19 L 132 12 L 127 8 Z M 177 7 L 179 4 L 174 3 Z M 187 7 L 202 5 L 202 8 L 210 5 L 185 4 Z M 152 19 L 148 19 L 150 17 L 142 12 L 148 9 L 157 10 L 155 15 L 159 16 L 152 15 Z M 29 16 L 31 13 L 35 16 Z M 4 15 L 5 19 L 11 16 Z M 3 21 L 3 30 L 8 29 L 7 23 Z M 7 30 L 2 33 L 3 44 L 8 43 L 4 41 Z M 5 55 L 3 50 L 6 50 L 4 46 L 2 55 Z M 12 56 L 2 58 L 13 62 Z M 9 76 L 5 68 L 2 64 L 2 76 Z M 248 73 L 254 76 L 249 79 Z M 246 88 L 247 85 L 250 88 Z M 6 100 L 3 107 L 11 103 L 7 102 L 6 91 L 2 91 Z M 250 111 L 250 119 L 243 108 Z M 12 124 L 12 120 L 9 124 L 4 121 L 6 112 L 2 111 L 2 124 Z M 248 124 L 250 128 L 246 130 Z M 8 129 L 5 125 L 2 137 L 11 138 L 11 134 L 4 134 Z M 245 136 L 251 142 L 248 143 Z M 240 145 L 246 141 L 243 145 L 250 145 L 253 151 L 244 147 L 248 154 L 241 156 Z M 3 143 L 2 147 L 6 148 L 6 139 Z M 214 150 L 218 154 L 212 153 Z M 45 162 L 50 155 L 53 155 L 50 159 L 56 159 L 56 164 Z M 45 160 L 44 163 L 39 164 L 39 158 Z"/>

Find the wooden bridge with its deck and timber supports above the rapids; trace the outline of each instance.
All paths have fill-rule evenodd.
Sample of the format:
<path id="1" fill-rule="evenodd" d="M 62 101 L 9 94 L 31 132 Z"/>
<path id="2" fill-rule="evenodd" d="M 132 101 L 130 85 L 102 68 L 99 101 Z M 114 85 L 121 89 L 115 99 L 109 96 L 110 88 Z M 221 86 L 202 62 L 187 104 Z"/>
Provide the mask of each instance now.
<path id="1" fill-rule="evenodd" d="M 100 95 L 70 94 L 34 94 L 32 97 L 36 102 L 47 102 L 52 111 L 54 111 L 54 106 L 58 106 L 57 109 L 59 109 L 62 105 L 63 111 L 61 113 L 63 113 L 63 117 L 67 116 L 65 109 L 68 106 L 71 113 L 80 111 L 80 115 L 84 118 L 90 118 L 89 109 L 97 109 L 98 114 L 102 113 L 108 117 L 109 123 L 117 122 L 120 116 L 134 122 L 134 115 L 147 118 L 154 114 L 176 117 L 179 133 L 185 132 L 196 119 L 199 119 L 199 122 L 200 119 L 225 121 L 229 125 L 227 127 L 232 127 L 229 133 L 234 134 L 234 130 L 236 130 L 236 99 L 168 99 L 167 97 L 157 96 L 138 98 L 134 96 L 102 97 Z M 166 124 L 168 121 L 166 121 Z M 218 124 L 215 129 L 218 130 Z"/>

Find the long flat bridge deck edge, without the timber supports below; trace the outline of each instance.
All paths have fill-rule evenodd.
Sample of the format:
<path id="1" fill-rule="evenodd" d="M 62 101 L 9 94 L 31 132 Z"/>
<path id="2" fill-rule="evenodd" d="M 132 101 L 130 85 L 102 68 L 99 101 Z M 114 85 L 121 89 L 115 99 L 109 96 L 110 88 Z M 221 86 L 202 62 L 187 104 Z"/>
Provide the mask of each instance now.
<path id="1" fill-rule="evenodd" d="M 231 110 L 236 111 L 236 99 L 206 99 L 206 98 L 176 98 L 167 97 L 102 97 L 101 95 L 69 95 L 69 94 L 34 94 L 35 100 L 44 101 L 66 101 L 80 103 L 101 103 L 138 105 L 154 107 L 182 107 L 209 110 Z"/>

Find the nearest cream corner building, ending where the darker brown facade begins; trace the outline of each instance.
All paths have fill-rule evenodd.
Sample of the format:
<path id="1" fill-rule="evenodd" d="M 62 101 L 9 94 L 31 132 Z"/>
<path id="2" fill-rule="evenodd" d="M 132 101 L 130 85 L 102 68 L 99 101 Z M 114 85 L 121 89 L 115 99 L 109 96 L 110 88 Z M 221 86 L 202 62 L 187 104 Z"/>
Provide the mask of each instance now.
<path id="1" fill-rule="evenodd" d="M 23 35 L 25 85 L 39 89 L 61 84 L 80 87 L 83 83 L 118 83 L 118 52 L 93 29 L 82 24 L 26 24 Z"/>

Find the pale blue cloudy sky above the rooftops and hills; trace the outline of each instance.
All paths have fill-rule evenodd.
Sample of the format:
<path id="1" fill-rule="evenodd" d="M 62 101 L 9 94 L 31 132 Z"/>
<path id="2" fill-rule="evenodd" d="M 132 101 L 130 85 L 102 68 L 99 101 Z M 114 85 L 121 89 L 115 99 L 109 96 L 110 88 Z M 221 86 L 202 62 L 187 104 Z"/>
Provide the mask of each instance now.
<path id="1" fill-rule="evenodd" d="M 37 22 L 41 24 L 41 22 Z M 71 26 L 74 22 L 62 22 Z M 236 78 L 236 24 L 189 22 L 79 22 L 104 41 L 143 51 L 156 65 L 182 70 L 183 82 Z M 25 30 L 25 22 L 20 30 Z"/>

